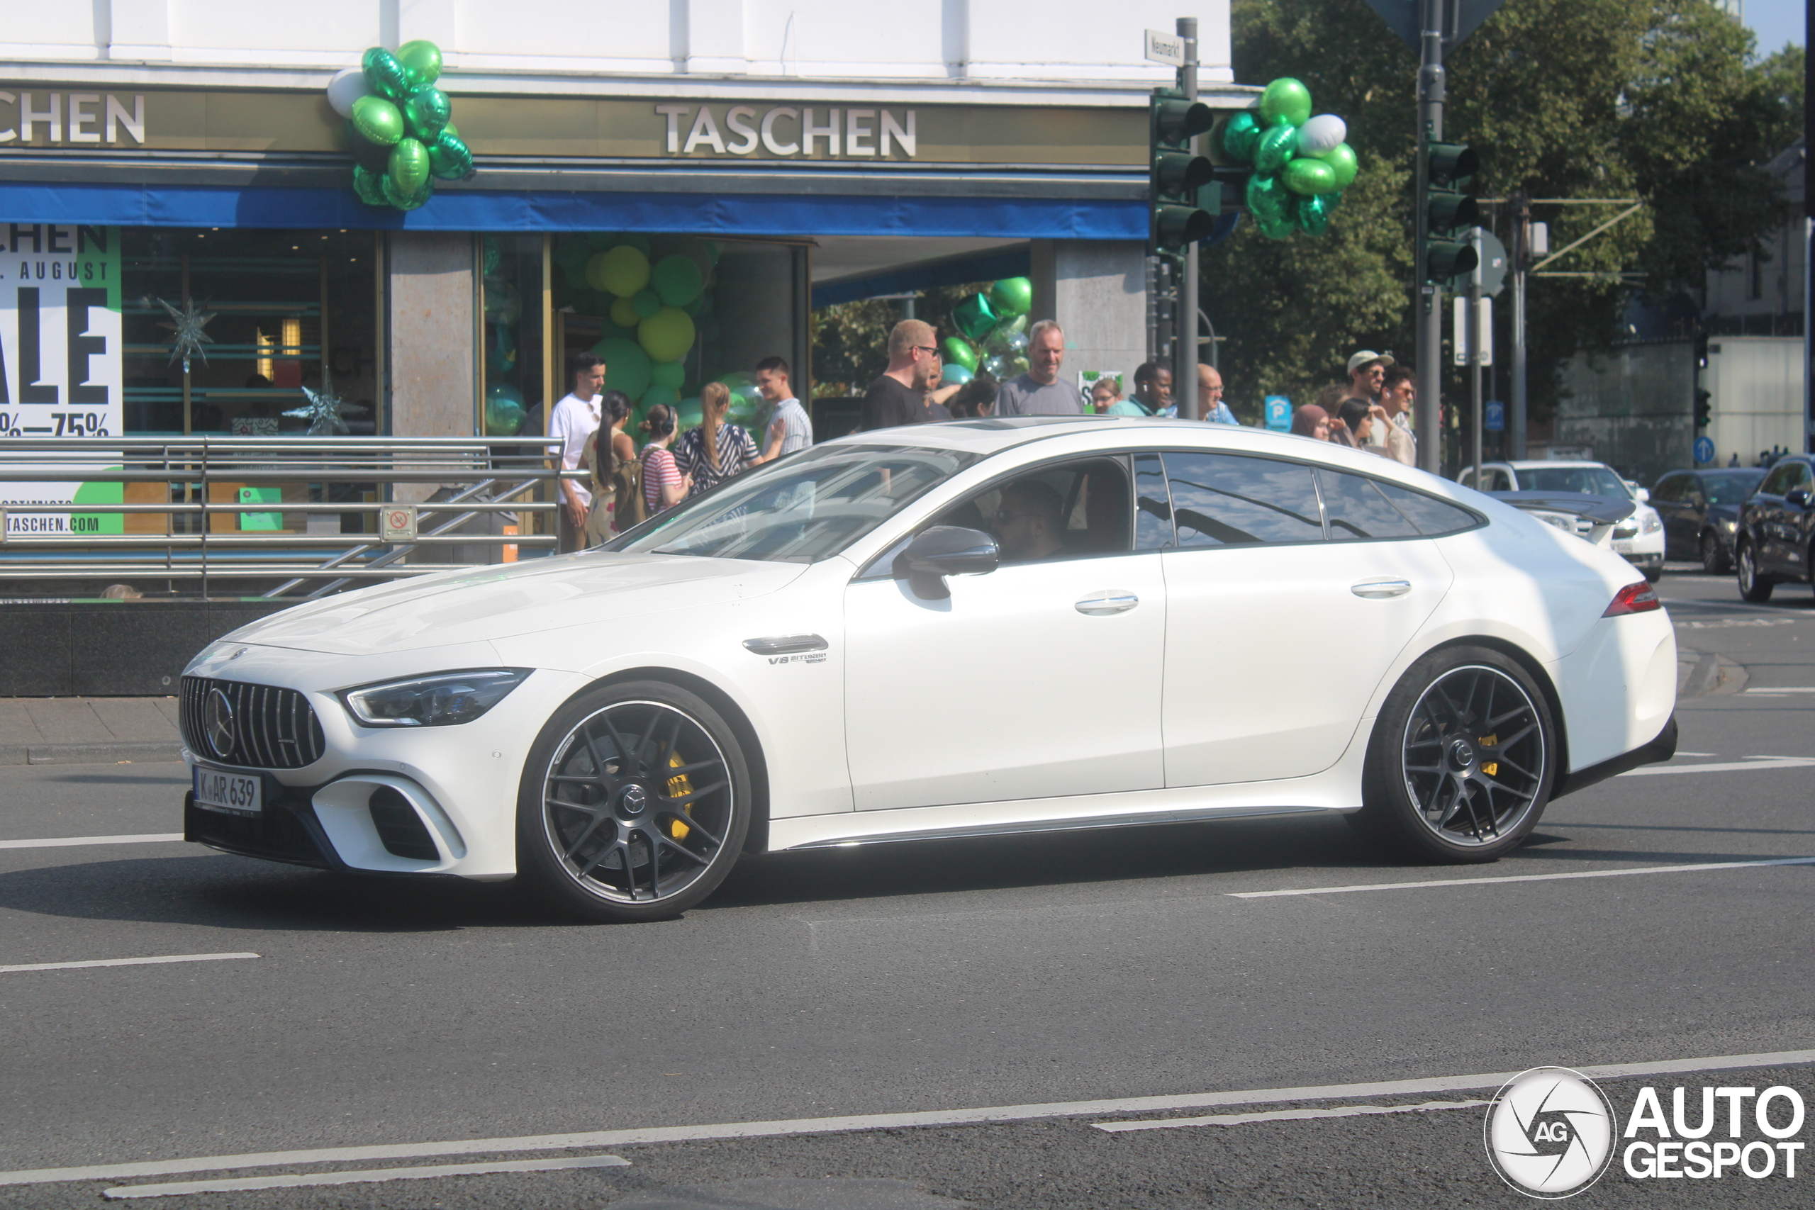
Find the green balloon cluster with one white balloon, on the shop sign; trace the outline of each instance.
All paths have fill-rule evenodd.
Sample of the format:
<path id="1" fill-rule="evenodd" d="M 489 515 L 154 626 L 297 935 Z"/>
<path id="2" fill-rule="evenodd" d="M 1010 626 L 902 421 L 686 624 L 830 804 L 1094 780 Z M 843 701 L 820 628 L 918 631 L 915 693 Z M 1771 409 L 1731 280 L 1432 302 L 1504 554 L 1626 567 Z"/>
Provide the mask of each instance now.
<path id="1" fill-rule="evenodd" d="M 472 151 L 450 122 L 439 78 L 441 49 L 417 40 L 396 54 L 376 45 L 358 67 L 329 80 L 329 105 L 347 120 L 352 140 L 359 201 L 414 210 L 434 194 L 436 180 L 472 176 Z"/>

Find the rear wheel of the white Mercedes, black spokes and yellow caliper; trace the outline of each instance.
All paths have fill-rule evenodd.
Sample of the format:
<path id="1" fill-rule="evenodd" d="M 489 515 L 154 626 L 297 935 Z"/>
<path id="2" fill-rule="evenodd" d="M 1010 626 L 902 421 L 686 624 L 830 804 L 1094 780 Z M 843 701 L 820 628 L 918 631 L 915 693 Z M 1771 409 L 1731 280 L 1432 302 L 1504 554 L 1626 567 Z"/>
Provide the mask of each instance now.
<path id="1" fill-rule="evenodd" d="M 1490 648 L 1443 648 L 1387 697 L 1349 820 L 1425 862 L 1494 862 L 1537 825 L 1555 776 L 1555 722 L 1530 673 Z"/>

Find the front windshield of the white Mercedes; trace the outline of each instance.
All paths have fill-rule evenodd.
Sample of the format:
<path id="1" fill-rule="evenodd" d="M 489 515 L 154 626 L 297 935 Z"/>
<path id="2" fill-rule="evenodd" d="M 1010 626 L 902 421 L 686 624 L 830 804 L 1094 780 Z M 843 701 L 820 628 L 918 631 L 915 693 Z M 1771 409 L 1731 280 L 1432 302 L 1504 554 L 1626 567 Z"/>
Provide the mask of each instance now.
<path id="1" fill-rule="evenodd" d="M 815 562 L 980 457 L 917 446 L 815 446 L 657 513 L 604 550 Z"/>

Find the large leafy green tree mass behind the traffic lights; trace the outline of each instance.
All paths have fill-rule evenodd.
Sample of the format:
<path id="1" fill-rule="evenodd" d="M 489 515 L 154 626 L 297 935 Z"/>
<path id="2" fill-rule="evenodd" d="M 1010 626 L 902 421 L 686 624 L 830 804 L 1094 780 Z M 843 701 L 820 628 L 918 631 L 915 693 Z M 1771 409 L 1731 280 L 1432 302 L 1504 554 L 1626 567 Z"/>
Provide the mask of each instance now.
<path id="1" fill-rule="evenodd" d="M 1243 223 L 1205 258 L 1223 377 L 1252 412 L 1338 381 L 1356 348 L 1412 352 L 1418 56 L 1363 0 L 1234 0 L 1232 22 L 1236 78 L 1303 80 L 1349 122 L 1363 172 L 1323 239 L 1274 243 Z M 1479 151 L 1483 198 L 1646 201 L 1554 267 L 1604 276 L 1534 281 L 1537 415 L 1570 354 L 1619 336 L 1634 287 L 1699 285 L 1782 221 L 1761 165 L 1800 129 L 1802 53 L 1753 62 L 1751 34 L 1708 0 L 1508 0 L 1445 67 L 1445 132 Z M 1561 249 L 1617 209 L 1534 214 Z M 1488 221 L 1505 236 L 1505 207 Z"/>

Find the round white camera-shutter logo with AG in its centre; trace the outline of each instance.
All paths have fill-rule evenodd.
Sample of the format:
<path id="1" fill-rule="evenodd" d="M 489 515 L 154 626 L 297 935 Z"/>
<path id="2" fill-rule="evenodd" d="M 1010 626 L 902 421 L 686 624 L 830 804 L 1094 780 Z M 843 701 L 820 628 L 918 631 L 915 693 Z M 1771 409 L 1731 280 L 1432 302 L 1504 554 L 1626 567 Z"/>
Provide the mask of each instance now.
<path id="1" fill-rule="evenodd" d="M 1486 1156 L 1530 1197 L 1574 1197 L 1614 1159 L 1614 1105 L 1566 1067 L 1534 1067 L 1506 1081 L 1486 1110 Z"/>

